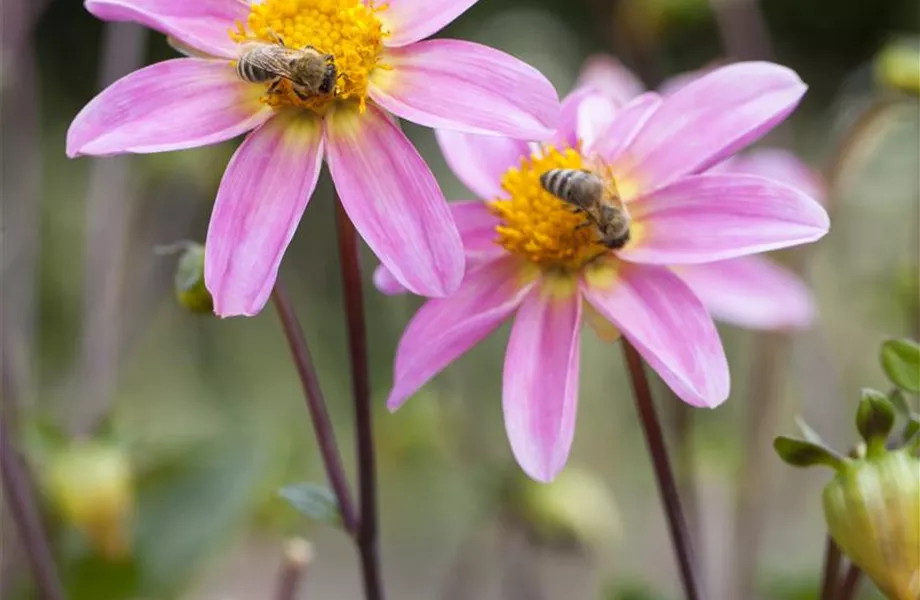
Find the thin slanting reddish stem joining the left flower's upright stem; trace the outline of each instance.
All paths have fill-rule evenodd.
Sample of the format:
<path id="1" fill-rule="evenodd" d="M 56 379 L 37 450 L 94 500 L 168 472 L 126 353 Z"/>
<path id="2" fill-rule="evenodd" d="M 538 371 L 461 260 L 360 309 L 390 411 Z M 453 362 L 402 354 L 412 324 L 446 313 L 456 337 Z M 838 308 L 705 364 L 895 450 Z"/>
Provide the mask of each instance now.
<path id="1" fill-rule="evenodd" d="M 342 457 L 339 456 L 338 445 L 335 442 L 335 430 L 332 427 L 332 421 L 329 419 L 329 412 L 326 410 L 326 401 L 319 387 L 319 378 L 313 366 L 313 359 L 310 356 L 310 349 L 307 347 L 303 329 L 291 306 L 291 301 L 281 285 L 280 279 L 275 283 L 272 299 L 275 302 L 278 317 L 281 319 L 284 335 L 291 348 L 294 366 L 297 368 L 297 374 L 300 375 L 300 382 L 303 385 L 304 396 L 307 401 L 307 410 L 310 411 L 310 420 L 313 421 L 313 430 L 316 432 L 316 442 L 323 457 L 326 477 L 329 478 L 329 484 L 332 486 L 332 491 L 339 503 L 342 524 L 349 534 L 355 536 L 358 532 L 358 519 L 355 515 L 354 503 L 348 489 L 348 478 L 345 476 L 345 469 L 342 467 Z"/>

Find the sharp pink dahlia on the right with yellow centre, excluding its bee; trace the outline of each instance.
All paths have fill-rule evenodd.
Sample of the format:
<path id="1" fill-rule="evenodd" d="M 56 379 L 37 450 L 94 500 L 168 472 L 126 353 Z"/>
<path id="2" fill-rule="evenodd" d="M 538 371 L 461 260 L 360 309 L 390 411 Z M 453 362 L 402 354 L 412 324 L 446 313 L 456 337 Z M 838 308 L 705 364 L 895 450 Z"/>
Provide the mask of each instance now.
<path id="1" fill-rule="evenodd" d="M 592 93 L 563 103 L 550 143 L 439 131 L 448 164 L 482 200 L 451 205 L 467 256 L 457 293 L 428 301 L 403 333 L 388 399 L 421 386 L 514 317 L 502 401 L 512 451 L 541 481 L 565 464 L 575 429 L 581 325 L 622 335 L 685 402 L 728 397 L 712 318 L 672 266 L 812 242 L 827 213 L 802 190 L 740 173 L 703 173 L 781 122 L 806 86 L 784 67 L 738 63 L 668 98 L 646 93 L 604 126 Z M 586 143 L 585 140 L 594 140 Z M 590 169 L 615 185 L 632 217 L 619 250 L 546 192 L 550 169 Z M 701 174 L 702 173 L 702 174 Z M 382 290 L 399 282 L 382 267 Z"/>

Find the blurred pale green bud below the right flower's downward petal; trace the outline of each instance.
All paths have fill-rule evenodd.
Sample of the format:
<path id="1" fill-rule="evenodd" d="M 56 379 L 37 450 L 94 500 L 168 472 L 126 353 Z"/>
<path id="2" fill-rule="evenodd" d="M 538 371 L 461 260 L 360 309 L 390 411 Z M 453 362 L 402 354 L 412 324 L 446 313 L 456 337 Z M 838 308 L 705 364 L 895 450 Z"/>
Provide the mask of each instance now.
<path id="1" fill-rule="evenodd" d="M 620 535 L 619 509 L 613 495 L 587 471 L 570 466 L 549 484 L 524 476 L 515 484 L 517 516 L 542 543 L 604 550 Z"/>

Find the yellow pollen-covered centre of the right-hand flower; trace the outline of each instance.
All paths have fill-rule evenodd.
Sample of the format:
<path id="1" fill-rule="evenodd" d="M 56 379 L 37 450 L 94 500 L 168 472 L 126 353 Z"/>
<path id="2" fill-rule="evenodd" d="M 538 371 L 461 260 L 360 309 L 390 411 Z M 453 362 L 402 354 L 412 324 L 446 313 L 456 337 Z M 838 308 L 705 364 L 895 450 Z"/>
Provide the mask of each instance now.
<path id="1" fill-rule="evenodd" d="M 585 159 L 574 148 L 544 146 L 521 160 L 502 177 L 507 199 L 489 203 L 501 218 L 496 243 L 542 269 L 575 271 L 608 251 L 597 241 L 594 227 L 582 227 L 583 213 L 543 189 L 540 176 L 551 169 L 583 169 Z"/>

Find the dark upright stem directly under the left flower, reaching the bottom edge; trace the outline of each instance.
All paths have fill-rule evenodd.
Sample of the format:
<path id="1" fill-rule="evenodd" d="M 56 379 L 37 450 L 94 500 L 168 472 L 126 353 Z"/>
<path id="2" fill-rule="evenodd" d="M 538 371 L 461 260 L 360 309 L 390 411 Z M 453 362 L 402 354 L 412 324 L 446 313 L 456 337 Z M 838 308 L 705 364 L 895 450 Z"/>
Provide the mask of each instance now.
<path id="1" fill-rule="evenodd" d="M 374 428 L 371 411 L 370 371 L 367 363 L 367 327 L 364 322 L 361 265 L 358 259 L 358 234 L 341 202 L 336 202 L 336 224 L 342 285 L 345 294 L 345 318 L 348 327 L 348 350 L 351 358 L 352 392 L 355 404 L 355 434 L 358 445 L 361 521 L 357 541 L 367 599 L 383 600 L 377 540 Z"/>

